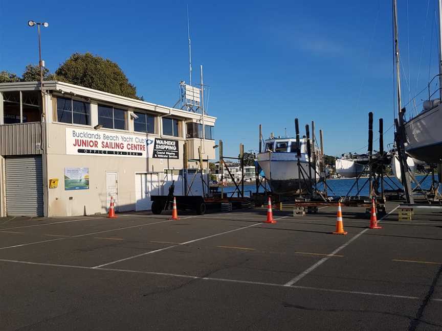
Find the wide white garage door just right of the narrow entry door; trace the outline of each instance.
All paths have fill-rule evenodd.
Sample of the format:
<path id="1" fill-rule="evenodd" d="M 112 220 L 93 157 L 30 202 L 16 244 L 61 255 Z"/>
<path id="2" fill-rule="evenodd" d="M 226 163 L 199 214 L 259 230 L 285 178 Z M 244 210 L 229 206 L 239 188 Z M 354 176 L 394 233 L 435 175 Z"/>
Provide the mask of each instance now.
<path id="1" fill-rule="evenodd" d="M 150 210 L 151 195 L 160 194 L 160 182 L 157 173 L 135 174 L 135 210 Z"/>

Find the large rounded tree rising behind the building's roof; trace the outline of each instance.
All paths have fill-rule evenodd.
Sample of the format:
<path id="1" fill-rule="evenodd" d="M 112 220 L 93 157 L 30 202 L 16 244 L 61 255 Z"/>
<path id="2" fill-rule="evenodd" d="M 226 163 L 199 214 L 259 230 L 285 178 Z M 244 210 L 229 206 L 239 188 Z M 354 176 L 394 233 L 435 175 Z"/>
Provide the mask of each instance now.
<path id="1" fill-rule="evenodd" d="M 130 84 L 117 63 L 91 53 L 75 53 L 55 71 L 59 81 L 118 94 L 134 99 L 137 89 Z"/>

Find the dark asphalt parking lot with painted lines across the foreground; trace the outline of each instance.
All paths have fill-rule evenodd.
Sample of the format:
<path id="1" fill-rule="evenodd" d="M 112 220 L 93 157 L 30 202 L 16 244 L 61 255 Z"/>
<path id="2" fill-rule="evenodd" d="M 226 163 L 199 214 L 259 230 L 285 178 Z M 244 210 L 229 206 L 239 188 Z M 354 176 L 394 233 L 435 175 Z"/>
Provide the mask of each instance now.
<path id="1" fill-rule="evenodd" d="M 440 330 L 442 212 L 0 219 L 2 330 Z"/>

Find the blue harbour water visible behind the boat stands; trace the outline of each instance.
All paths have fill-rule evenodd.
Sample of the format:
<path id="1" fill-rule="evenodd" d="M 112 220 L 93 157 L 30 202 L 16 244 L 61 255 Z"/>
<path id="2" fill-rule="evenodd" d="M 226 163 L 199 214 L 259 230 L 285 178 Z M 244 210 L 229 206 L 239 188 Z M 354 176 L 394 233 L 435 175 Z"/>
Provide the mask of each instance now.
<path id="1" fill-rule="evenodd" d="M 421 181 L 424 177 L 425 176 L 416 176 L 416 179 L 418 181 Z M 437 179 L 437 176 L 436 176 L 436 179 Z M 351 186 L 353 184 L 355 184 L 355 181 L 356 181 L 355 178 L 328 179 L 327 185 L 331 188 L 331 190 L 328 189 L 328 195 L 346 196 L 348 194 L 348 191 L 350 190 Z M 366 181 L 367 181 L 367 178 L 360 178 L 359 179 L 359 188 L 361 188 Z M 396 177 L 385 178 L 384 182 L 385 182 L 385 184 L 384 184 L 385 190 L 397 190 L 398 187 L 402 186 L 401 182 L 399 180 L 397 180 Z M 431 185 L 431 176 L 428 176 L 423 181 L 421 186 L 424 189 L 428 189 L 428 188 L 430 188 L 430 185 Z M 412 186 L 414 187 L 415 185 L 413 184 Z M 319 188 L 319 190 L 323 191 L 323 189 L 324 189 L 323 183 L 319 183 L 318 188 Z M 368 182 L 367 182 L 365 184 L 365 186 L 362 188 L 360 195 L 361 196 L 368 196 L 368 190 L 369 190 L 369 187 L 368 187 Z M 220 191 L 220 188 L 218 188 L 218 191 Z M 225 193 L 232 193 L 234 191 L 235 191 L 235 186 L 224 187 Z M 246 196 L 250 196 L 250 191 L 256 192 L 255 183 L 245 184 L 244 191 L 245 191 Z M 262 187 L 260 187 L 259 192 L 264 192 L 264 189 Z M 440 187 L 439 187 L 439 192 L 440 192 Z M 355 184 L 355 186 L 351 189 L 351 191 L 348 195 L 350 195 L 350 196 L 356 195 L 357 193 L 358 193 L 358 189 L 357 189 L 357 185 Z M 235 193 L 235 195 L 236 195 L 236 193 Z"/>

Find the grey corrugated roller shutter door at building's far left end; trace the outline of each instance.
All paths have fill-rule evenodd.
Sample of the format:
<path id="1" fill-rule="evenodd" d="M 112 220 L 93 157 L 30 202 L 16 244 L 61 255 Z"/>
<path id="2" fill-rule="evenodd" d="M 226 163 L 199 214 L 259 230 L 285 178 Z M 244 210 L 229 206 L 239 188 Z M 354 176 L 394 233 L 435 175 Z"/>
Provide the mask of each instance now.
<path id="1" fill-rule="evenodd" d="M 5 158 L 8 216 L 43 216 L 41 156 Z"/>

